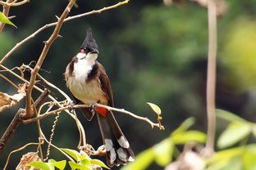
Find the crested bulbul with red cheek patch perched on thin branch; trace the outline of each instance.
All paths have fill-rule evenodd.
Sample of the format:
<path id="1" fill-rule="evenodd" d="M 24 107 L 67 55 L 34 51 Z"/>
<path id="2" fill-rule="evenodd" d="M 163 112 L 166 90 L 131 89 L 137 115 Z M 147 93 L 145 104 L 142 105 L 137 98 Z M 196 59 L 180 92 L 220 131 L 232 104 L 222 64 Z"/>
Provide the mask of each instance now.
<path id="1" fill-rule="evenodd" d="M 85 41 L 66 67 L 66 85 L 75 98 L 75 103 L 91 105 L 95 102 L 113 107 L 112 87 L 106 71 L 96 59 L 98 45 L 93 38 L 91 29 L 87 30 Z M 135 154 L 130 149 L 121 128 L 109 110 L 104 108 L 82 108 L 85 118 L 91 120 L 96 111 L 98 125 L 107 150 L 107 164 L 126 164 L 135 159 Z"/>

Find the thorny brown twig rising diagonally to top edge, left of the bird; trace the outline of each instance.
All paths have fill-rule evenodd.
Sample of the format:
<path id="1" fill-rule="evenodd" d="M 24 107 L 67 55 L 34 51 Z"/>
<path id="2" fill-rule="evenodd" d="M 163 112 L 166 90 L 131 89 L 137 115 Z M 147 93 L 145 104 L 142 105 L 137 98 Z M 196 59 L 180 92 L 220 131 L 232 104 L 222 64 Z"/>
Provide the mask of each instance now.
<path id="1" fill-rule="evenodd" d="M 64 19 L 66 18 L 68 13 L 71 11 L 71 8 L 73 7 L 74 3 L 75 3 L 75 0 L 71 0 L 67 4 L 66 9 L 62 12 L 62 16 L 59 18 L 59 20 L 57 20 L 57 25 L 56 25 L 55 29 L 53 30 L 53 34 L 45 42 L 43 51 L 42 51 L 41 55 L 39 56 L 39 60 L 37 61 L 36 65 L 34 66 L 33 71 L 31 72 L 30 83 L 27 87 L 26 98 L 25 98 L 25 101 L 26 101 L 25 109 L 26 109 L 27 118 L 32 118 L 34 115 L 33 110 L 31 108 L 31 95 L 32 95 L 32 89 L 33 89 L 34 83 L 35 83 L 35 78 L 39 72 L 39 69 L 41 68 L 41 65 L 43 64 L 43 60 L 45 59 L 49 48 L 51 47 L 53 41 L 57 38 L 57 35 L 59 34 L 59 32 L 62 28 Z"/>

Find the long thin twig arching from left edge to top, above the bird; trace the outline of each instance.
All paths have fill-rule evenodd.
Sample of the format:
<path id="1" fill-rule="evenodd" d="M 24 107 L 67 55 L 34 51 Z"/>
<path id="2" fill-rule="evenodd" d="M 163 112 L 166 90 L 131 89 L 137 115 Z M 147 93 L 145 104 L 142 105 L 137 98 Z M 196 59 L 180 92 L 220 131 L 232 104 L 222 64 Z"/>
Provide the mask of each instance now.
<path id="1" fill-rule="evenodd" d="M 68 20 L 74 20 L 74 19 L 77 19 L 77 18 L 80 18 L 80 17 L 83 17 L 83 16 L 89 16 L 89 15 L 92 15 L 92 14 L 98 14 L 98 13 L 101 13 L 103 11 L 107 11 L 107 10 L 110 10 L 110 9 L 113 9 L 113 8 L 116 8 L 116 7 L 119 7 L 121 5 L 124 5 L 126 3 L 128 3 L 130 0 L 126 0 L 126 1 L 123 1 L 123 2 L 118 2 L 117 4 L 115 5 L 112 5 L 112 6 L 109 6 L 109 7 L 103 7 L 99 10 L 94 10 L 94 11 L 89 11 L 89 12 L 85 12 L 83 14 L 79 14 L 79 15 L 76 15 L 76 16 L 69 16 L 67 17 L 64 22 L 68 21 Z M 57 17 L 58 18 L 58 17 Z M 0 60 L 0 65 L 2 65 L 2 63 L 7 60 L 7 58 L 9 56 L 11 56 L 11 54 L 16 51 L 19 47 L 21 47 L 21 45 L 23 45 L 25 42 L 29 41 L 31 38 L 34 38 L 37 34 L 39 34 L 41 31 L 43 31 L 43 29 L 47 29 L 48 27 L 52 27 L 52 26 L 55 26 L 57 25 L 57 22 L 53 22 L 51 24 L 48 24 L 48 25 L 44 25 L 43 27 L 41 27 L 40 29 L 36 30 L 33 34 L 31 34 L 29 37 L 23 39 L 21 42 L 18 42 L 16 43 L 16 46 L 13 47 L 10 51 L 7 52 L 7 54 L 5 56 L 2 57 L 2 60 Z M 1 32 L 1 30 L 0 30 Z"/>

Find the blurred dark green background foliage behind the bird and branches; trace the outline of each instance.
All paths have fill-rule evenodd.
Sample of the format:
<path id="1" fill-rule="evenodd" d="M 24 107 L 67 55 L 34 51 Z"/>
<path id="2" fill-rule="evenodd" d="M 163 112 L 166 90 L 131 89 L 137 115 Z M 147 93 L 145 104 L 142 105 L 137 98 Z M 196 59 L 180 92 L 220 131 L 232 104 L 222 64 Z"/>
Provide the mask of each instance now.
<path id="1" fill-rule="evenodd" d="M 86 11 L 107 7 L 118 1 L 77 1 L 78 7 L 71 10 L 71 16 Z M 256 100 L 256 2 L 254 0 L 226 0 L 228 9 L 218 18 L 217 53 L 217 108 L 229 110 L 245 119 L 255 122 Z M 21 7 L 12 7 L 11 20 L 18 29 L 6 25 L 0 34 L 0 57 L 17 42 L 35 30 L 56 21 L 67 1 L 31 1 Z M 48 81 L 67 91 L 63 73 L 71 57 L 80 49 L 86 29 L 91 27 L 98 42 L 100 55 L 112 83 L 114 103 L 140 116 L 156 121 L 156 114 L 146 102 L 157 104 L 162 109 L 162 123 L 165 131 L 151 129 L 149 124 L 125 114 L 116 114 L 135 154 L 139 154 L 155 143 L 169 136 L 188 117 L 197 119 L 195 129 L 206 132 L 205 87 L 208 54 L 207 10 L 196 2 L 184 1 L 164 6 L 153 0 L 130 0 L 127 5 L 104 11 L 101 14 L 71 20 L 62 26 L 58 38 L 50 48 L 39 74 Z M 13 53 L 4 65 L 8 68 L 29 64 L 38 60 L 43 41 L 53 32 L 53 27 L 43 30 Z M 32 63 L 34 65 L 34 63 Z M 46 71 L 45 71 L 46 70 Z M 2 73 L 19 83 L 7 73 Z M 29 78 L 26 73 L 25 77 Z M 1 92 L 14 94 L 16 89 L 2 78 Z M 39 86 L 46 86 L 39 83 Z M 58 100 L 62 96 L 53 90 Z M 34 91 L 34 98 L 39 96 Z M 0 114 L 0 134 L 13 118 L 19 107 Z M 78 110 L 77 113 L 80 113 Z M 88 142 L 95 148 L 102 144 L 95 119 L 84 123 Z M 42 127 L 49 136 L 54 117 L 42 121 Z M 225 123 L 218 122 L 217 129 L 223 130 Z M 59 147 L 75 149 L 78 143 L 75 123 L 65 113 L 57 123 L 53 143 Z M 7 154 L 27 142 L 37 141 L 36 123 L 24 124 L 15 132 L 0 155 L 0 168 Z M 254 141 L 254 139 L 250 139 Z M 35 147 L 14 154 L 8 169 L 14 169 L 21 155 L 34 151 Z M 63 159 L 52 149 L 50 157 Z M 112 168 L 118 169 L 118 168 Z M 153 164 L 151 169 L 162 169 Z"/>

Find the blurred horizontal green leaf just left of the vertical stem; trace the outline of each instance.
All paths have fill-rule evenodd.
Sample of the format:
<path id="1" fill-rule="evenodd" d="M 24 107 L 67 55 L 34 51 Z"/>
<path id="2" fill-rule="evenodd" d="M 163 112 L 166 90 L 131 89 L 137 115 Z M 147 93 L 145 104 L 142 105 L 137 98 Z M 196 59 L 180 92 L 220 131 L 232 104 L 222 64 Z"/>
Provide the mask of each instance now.
<path id="1" fill-rule="evenodd" d="M 185 144 L 188 141 L 198 141 L 200 143 L 204 143 L 206 140 L 206 135 L 203 132 L 199 131 L 186 131 L 172 135 L 171 140 L 175 145 Z"/>

